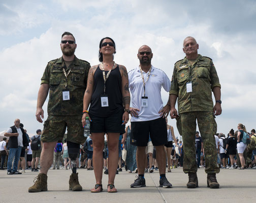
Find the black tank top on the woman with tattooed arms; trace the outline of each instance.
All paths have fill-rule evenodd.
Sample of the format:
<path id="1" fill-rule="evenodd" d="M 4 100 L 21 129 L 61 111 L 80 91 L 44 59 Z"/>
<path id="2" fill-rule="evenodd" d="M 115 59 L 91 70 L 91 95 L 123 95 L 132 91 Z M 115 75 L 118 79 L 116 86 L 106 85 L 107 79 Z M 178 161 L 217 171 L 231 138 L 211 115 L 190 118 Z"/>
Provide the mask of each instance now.
<path id="1" fill-rule="evenodd" d="M 101 95 L 104 94 L 104 79 L 100 67 L 94 73 L 93 93 L 91 95 L 89 113 L 98 117 L 108 117 L 123 109 L 121 74 L 119 66 L 111 71 L 106 81 L 106 94 L 108 107 L 101 107 Z M 105 71 L 105 75 L 108 71 Z"/>

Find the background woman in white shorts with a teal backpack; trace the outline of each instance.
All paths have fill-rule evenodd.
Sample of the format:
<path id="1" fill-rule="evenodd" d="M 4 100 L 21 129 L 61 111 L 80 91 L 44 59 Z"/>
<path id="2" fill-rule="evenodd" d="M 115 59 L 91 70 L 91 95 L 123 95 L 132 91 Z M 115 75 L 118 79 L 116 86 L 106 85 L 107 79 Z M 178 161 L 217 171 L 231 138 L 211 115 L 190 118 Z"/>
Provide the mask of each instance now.
<path id="1" fill-rule="evenodd" d="M 247 145 L 242 142 L 243 139 L 243 133 L 247 132 L 245 126 L 242 123 L 239 123 L 237 126 L 238 132 L 237 132 L 237 153 L 240 158 L 241 167 L 239 169 L 243 170 L 245 165 L 245 160 L 243 156 L 243 152 L 246 149 Z"/>

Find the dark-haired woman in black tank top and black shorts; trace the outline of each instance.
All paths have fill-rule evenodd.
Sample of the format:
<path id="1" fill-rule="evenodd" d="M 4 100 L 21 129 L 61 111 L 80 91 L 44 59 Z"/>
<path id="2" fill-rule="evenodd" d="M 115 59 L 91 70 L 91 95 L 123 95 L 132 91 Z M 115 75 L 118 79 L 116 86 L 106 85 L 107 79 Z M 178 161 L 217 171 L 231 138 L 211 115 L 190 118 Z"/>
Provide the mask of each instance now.
<path id="1" fill-rule="evenodd" d="M 90 119 L 90 133 L 93 146 L 93 168 L 96 185 L 91 192 L 101 192 L 103 171 L 104 135 L 108 136 L 108 192 L 117 192 L 114 179 L 118 165 L 118 140 L 125 132 L 129 120 L 130 92 L 126 68 L 113 61 L 115 43 L 111 38 L 100 42 L 100 64 L 90 68 L 87 88 L 83 99 L 82 124 Z M 88 107 L 90 105 L 89 111 Z"/>

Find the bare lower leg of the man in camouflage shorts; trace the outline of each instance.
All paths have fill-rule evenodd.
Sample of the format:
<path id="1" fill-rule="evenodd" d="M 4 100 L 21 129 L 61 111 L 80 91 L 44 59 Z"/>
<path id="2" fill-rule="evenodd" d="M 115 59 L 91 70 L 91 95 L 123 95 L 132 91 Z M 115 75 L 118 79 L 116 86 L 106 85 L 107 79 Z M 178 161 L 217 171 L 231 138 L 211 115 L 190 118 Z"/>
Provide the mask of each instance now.
<path id="1" fill-rule="evenodd" d="M 41 153 L 41 168 L 40 173 L 47 174 L 53 161 L 53 150 L 57 141 L 51 143 L 44 143 Z"/>

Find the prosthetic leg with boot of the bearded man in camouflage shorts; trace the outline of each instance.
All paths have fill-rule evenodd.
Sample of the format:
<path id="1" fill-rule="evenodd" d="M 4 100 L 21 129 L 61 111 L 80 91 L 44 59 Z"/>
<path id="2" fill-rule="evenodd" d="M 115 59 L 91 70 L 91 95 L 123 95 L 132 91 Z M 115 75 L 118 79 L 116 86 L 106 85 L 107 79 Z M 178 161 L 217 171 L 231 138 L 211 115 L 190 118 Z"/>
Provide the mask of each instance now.
<path id="1" fill-rule="evenodd" d="M 82 186 L 79 184 L 78 173 L 76 173 L 76 169 L 77 169 L 76 159 L 78 158 L 79 149 L 80 149 L 79 144 L 68 141 L 67 145 L 68 145 L 69 158 L 71 159 L 71 166 L 72 166 L 72 174 L 69 180 L 69 189 L 72 191 L 81 191 Z"/>

